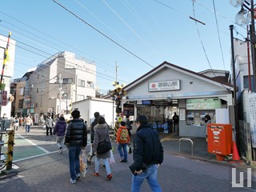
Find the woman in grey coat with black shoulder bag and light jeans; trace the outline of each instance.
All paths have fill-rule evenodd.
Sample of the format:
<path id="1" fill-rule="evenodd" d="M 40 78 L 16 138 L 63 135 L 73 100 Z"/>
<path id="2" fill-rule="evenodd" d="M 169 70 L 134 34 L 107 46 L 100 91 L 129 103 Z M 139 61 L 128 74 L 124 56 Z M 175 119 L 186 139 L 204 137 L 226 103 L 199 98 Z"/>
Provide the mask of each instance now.
<path id="1" fill-rule="evenodd" d="M 109 126 L 106 124 L 105 118 L 102 116 L 98 117 L 98 124 L 94 126 L 94 149 L 93 152 L 96 154 L 95 158 L 95 170 L 93 175 L 98 177 L 99 176 L 99 162 L 100 159 L 103 159 L 103 163 L 106 168 L 106 180 L 110 180 L 112 178 L 110 163 L 108 162 L 108 158 L 110 158 L 110 150 L 106 151 L 106 153 L 99 154 L 97 152 L 98 144 L 106 140 L 110 142 L 110 133 L 109 133 Z M 110 142 L 110 148 L 111 142 Z"/>

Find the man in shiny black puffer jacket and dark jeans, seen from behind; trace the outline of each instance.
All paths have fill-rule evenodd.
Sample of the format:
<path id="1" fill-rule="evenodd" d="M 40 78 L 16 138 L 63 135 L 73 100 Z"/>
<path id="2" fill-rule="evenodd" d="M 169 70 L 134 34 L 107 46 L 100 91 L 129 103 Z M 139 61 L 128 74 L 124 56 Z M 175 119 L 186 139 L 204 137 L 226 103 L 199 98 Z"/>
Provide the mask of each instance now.
<path id="1" fill-rule="evenodd" d="M 87 145 L 87 130 L 85 123 L 80 118 L 79 110 L 72 111 L 71 115 L 73 119 L 66 127 L 65 145 L 69 150 L 70 182 L 74 184 L 81 176 L 79 154 Z"/>

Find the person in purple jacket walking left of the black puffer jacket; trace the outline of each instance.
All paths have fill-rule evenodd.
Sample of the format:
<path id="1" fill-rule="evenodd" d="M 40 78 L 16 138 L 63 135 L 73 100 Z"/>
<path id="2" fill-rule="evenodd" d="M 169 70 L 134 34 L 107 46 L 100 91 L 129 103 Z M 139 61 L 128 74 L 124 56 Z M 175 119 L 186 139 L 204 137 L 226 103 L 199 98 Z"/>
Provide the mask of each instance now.
<path id="1" fill-rule="evenodd" d="M 58 146 L 58 153 L 61 154 L 63 150 L 64 135 L 66 132 L 66 120 L 64 117 L 60 117 L 56 125 L 54 126 L 54 135 L 56 134 L 56 143 Z"/>

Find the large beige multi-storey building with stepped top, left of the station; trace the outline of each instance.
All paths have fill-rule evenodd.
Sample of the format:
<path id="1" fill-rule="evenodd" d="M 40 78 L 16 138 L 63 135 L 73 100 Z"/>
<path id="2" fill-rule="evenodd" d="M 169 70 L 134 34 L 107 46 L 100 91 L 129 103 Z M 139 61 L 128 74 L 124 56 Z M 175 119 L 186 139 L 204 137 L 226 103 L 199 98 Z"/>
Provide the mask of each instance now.
<path id="1" fill-rule="evenodd" d="M 27 82 L 27 113 L 69 114 L 73 102 L 95 97 L 96 66 L 64 51 L 40 63 Z"/>

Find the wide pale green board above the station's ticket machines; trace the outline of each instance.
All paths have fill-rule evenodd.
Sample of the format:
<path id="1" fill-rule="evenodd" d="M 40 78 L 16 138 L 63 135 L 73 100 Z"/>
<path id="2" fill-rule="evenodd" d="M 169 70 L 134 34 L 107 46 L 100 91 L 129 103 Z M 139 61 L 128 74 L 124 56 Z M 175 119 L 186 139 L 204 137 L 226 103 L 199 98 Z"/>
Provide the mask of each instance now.
<path id="1" fill-rule="evenodd" d="M 186 99 L 186 110 L 214 110 L 222 108 L 219 98 L 188 98 Z"/>

